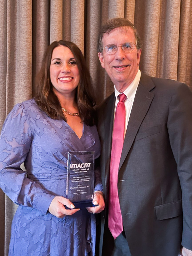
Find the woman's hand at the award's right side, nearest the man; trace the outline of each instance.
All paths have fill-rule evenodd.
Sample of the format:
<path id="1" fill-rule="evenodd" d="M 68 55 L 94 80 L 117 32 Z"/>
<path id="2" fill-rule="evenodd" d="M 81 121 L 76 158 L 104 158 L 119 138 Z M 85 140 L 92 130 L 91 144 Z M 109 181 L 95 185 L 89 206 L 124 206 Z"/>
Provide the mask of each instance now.
<path id="1" fill-rule="evenodd" d="M 99 205 L 87 208 L 88 212 L 100 213 L 104 210 L 105 202 L 104 202 L 104 198 L 103 198 L 103 192 L 101 192 L 101 191 L 94 192 L 93 204 L 95 204 L 95 205 L 99 204 Z"/>

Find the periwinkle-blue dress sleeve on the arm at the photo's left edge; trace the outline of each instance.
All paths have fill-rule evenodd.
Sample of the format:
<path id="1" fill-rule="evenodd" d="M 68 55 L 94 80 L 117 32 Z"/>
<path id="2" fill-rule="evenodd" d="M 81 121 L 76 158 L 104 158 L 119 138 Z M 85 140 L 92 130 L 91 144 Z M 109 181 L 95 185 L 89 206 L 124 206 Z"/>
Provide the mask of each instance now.
<path id="1" fill-rule="evenodd" d="M 17 104 L 7 116 L 0 136 L 0 187 L 18 205 L 33 207 L 46 214 L 55 197 L 35 181 L 26 177 L 20 165 L 24 163 L 31 143 L 27 111 Z"/>

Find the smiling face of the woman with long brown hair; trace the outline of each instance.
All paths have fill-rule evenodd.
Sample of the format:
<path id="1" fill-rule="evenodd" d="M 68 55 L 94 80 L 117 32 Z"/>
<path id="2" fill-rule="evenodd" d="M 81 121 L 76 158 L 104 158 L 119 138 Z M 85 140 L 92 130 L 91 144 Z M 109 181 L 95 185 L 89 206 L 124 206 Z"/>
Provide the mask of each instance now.
<path id="1" fill-rule="evenodd" d="M 80 75 L 76 60 L 68 47 L 60 45 L 54 48 L 50 65 L 50 78 L 53 91 L 58 97 L 75 94 Z"/>

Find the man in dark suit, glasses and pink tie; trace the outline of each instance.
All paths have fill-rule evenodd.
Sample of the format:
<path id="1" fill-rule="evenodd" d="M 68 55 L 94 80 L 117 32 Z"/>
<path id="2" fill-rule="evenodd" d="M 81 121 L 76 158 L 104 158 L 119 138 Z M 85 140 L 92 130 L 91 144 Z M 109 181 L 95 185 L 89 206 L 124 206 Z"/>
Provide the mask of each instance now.
<path id="1" fill-rule="evenodd" d="M 106 199 L 100 255 L 189 256 L 192 93 L 185 84 L 141 73 L 140 55 L 131 22 L 103 26 L 98 56 L 115 93 L 98 108 Z"/>

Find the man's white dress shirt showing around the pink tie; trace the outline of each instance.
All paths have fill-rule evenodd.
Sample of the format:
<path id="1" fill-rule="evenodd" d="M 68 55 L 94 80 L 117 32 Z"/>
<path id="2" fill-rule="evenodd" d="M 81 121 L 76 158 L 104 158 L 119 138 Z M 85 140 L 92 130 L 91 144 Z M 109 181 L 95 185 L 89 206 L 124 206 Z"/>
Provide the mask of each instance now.
<path id="1" fill-rule="evenodd" d="M 139 84 L 139 81 L 140 81 L 140 77 L 141 77 L 141 71 L 138 70 L 137 75 L 135 76 L 132 83 L 123 92 L 127 96 L 127 99 L 124 102 L 124 104 L 125 104 L 125 113 L 126 113 L 125 114 L 126 119 L 125 119 L 124 138 L 125 138 L 125 133 L 126 133 L 126 130 L 127 130 L 127 124 L 129 122 L 129 117 L 130 117 L 130 114 L 131 114 L 133 102 L 134 102 L 134 99 L 135 99 L 135 93 L 137 91 L 137 87 L 138 87 L 138 84 Z M 115 87 L 115 85 L 114 85 L 114 87 Z M 117 98 L 119 96 L 119 94 L 120 94 L 120 92 L 118 92 L 116 87 L 115 87 L 116 101 L 115 101 L 115 109 L 114 109 L 114 118 L 115 118 L 116 106 L 117 106 L 117 103 L 119 102 L 119 98 Z"/>

